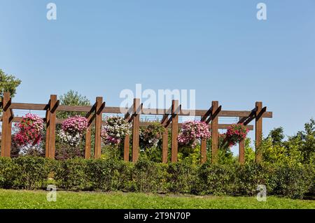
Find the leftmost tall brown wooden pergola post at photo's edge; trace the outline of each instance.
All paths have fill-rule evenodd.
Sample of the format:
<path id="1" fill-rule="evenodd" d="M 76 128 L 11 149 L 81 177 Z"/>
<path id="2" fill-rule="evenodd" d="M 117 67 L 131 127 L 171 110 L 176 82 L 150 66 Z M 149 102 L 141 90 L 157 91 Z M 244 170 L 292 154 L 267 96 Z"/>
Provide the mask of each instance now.
<path id="1" fill-rule="evenodd" d="M 1 157 L 10 157 L 11 151 L 11 127 L 12 120 L 10 113 L 10 93 L 5 92 L 3 94 L 3 116 L 2 116 L 2 139 L 1 139 Z"/>

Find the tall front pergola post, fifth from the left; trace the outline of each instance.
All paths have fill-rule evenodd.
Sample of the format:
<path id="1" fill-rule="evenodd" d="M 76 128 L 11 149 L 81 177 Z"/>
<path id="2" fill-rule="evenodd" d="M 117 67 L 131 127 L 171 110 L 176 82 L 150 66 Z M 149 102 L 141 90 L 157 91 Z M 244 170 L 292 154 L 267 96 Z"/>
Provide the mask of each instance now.
<path id="1" fill-rule="evenodd" d="M 179 134 L 179 101 L 172 101 L 172 163 L 177 161 L 177 154 L 179 150 L 179 141 L 177 136 Z"/>

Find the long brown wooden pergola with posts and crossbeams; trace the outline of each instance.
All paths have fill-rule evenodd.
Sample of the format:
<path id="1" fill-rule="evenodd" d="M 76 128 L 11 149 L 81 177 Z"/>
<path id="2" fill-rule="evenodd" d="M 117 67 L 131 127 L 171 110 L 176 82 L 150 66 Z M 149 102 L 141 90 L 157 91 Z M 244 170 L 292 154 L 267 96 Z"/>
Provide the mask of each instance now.
<path id="1" fill-rule="evenodd" d="M 218 117 L 239 117 L 239 123 L 243 123 L 249 130 L 253 130 L 254 126 L 249 125 L 255 120 L 255 156 L 256 161 L 262 161 L 262 154 L 258 149 L 262 141 L 262 119 L 272 117 L 272 112 L 267 111 L 267 107 L 262 107 L 262 102 L 257 101 L 252 110 L 222 110 L 218 101 L 212 101 L 211 107 L 208 110 L 183 110 L 179 101 L 173 100 L 171 108 L 143 108 L 140 99 L 134 99 L 134 103 L 130 108 L 107 107 L 103 101 L 102 96 L 98 96 L 93 106 L 63 106 L 59 105 L 57 95 L 50 95 L 48 103 L 13 103 L 10 98 L 10 93 L 3 94 L 0 102 L 0 108 L 3 108 L 3 116 L 0 117 L 2 122 L 2 138 L 1 138 L 1 157 L 10 157 L 11 148 L 11 131 L 13 122 L 20 122 L 22 117 L 15 117 L 13 110 L 45 110 L 45 118 L 43 121 L 46 125 L 46 144 L 45 157 L 51 159 L 55 158 L 55 131 L 56 124 L 61 124 L 64 120 L 57 119 L 56 113 L 58 111 L 66 112 L 83 112 L 86 113 L 89 126 L 85 135 L 85 159 L 91 157 L 91 127 L 95 126 L 94 139 L 94 158 L 101 157 L 101 131 L 102 131 L 102 114 L 123 114 L 128 122 L 132 123 L 132 161 L 139 159 L 139 128 L 146 127 L 150 122 L 140 122 L 140 115 L 162 115 L 161 123 L 166 128 L 162 136 L 162 162 L 167 163 L 168 155 L 168 130 L 172 128 L 172 162 L 177 161 L 178 155 L 178 141 L 177 136 L 181 123 L 179 123 L 179 116 L 199 116 L 202 121 L 209 124 L 211 128 L 211 162 L 218 161 L 218 129 L 228 129 L 230 124 L 219 124 Z M 124 112 L 122 112 L 124 111 Z M 201 142 L 201 162 L 207 160 L 207 141 Z M 124 140 L 124 160 L 129 161 L 130 154 L 130 136 L 126 136 Z M 239 162 L 244 164 L 244 141 L 239 143 Z"/>

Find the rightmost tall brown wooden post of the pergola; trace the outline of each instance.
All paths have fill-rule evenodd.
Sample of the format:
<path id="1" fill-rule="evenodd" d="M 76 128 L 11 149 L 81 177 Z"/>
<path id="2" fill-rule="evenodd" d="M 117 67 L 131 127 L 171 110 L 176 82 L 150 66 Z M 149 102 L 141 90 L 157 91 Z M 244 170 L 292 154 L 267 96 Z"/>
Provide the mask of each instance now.
<path id="1" fill-rule="evenodd" d="M 262 153 L 260 150 L 260 144 L 262 141 L 262 117 L 258 117 L 258 114 L 262 110 L 262 102 L 256 101 L 255 107 L 255 153 L 256 162 L 259 163 L 260 161 L 262 161 Z"/>

